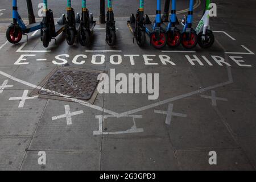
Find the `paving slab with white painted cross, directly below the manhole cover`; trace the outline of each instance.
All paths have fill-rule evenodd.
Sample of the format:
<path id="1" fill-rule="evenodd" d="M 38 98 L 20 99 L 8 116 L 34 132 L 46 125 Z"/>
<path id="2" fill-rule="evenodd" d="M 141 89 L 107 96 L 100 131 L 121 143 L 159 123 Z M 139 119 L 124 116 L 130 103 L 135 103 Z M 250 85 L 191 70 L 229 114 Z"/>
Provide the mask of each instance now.
<path id="1" fill-rule="evenodd" d="M 72 125 L 67 125 L 66 118 L 52 120 L 52 117 L 65 114 L 65 105 L 70 112 L 83 111 L 72 116 Z M 30 150 L 37 151 L 100 151 L 101 136 L 94 136 L 93 129 L 98 129 L 95 115 L 101 111 L 89 109 L 73 102 L 48 100 L 40 123 L 32 138 Z"/>

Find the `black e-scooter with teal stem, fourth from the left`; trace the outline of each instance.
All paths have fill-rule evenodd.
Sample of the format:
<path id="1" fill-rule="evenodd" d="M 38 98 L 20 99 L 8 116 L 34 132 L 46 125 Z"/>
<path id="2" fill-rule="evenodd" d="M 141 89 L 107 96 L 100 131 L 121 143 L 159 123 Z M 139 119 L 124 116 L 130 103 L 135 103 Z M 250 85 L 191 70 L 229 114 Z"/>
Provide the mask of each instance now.
<path id="1" fill-rule="evenodd" d="M 79 19 L 77 15 L 77 20 Z M 78 31 L 78 39 L 81 46 L 89 46 L 90 37 L 93 35 L 93 29 L 96 21 L 93 20 L 93 14 L 89 15 L 89 10 L 86 8 L 86 0 L 82 0 L 82 17 L 80 19 L 80 26 Z"/>

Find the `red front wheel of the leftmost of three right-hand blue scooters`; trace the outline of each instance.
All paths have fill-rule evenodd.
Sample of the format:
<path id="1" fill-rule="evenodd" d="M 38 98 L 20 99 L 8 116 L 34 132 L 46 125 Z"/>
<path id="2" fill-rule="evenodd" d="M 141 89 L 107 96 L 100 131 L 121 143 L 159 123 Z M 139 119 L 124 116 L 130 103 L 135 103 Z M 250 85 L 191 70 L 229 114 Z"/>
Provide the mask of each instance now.
<path id="1" fill-rule="evenodd" d="M 163 48 L 167 43 L 166 34 L 164 32 L 152 32 L 150 42 L 156 49 Z"/>

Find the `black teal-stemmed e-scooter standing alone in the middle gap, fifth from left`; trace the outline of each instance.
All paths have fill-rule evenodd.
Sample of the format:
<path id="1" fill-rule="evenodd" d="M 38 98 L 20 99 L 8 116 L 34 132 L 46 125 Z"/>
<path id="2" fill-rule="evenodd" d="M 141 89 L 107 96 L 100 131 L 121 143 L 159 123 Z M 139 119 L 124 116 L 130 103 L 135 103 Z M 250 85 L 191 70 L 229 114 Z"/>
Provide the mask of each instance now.
<path id="1" fill-rule="evenodd" d="M 114 46 L 116 40 L 117 35 L 115 34 L 115 20 L 112 9 L 112 0 L 108 0 L 108 11 L 106 14 L 106 43 L 109 46 Z"/>

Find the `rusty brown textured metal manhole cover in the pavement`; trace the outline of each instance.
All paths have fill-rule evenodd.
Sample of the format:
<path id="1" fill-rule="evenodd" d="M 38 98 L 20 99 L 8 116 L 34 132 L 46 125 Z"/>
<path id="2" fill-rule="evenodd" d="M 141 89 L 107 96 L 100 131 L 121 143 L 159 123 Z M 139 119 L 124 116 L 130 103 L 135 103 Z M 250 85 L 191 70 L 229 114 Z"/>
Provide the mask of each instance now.
<path id="1" fill-rule="evenodd" d="M 102 72 L 77 68 L 56 68 L 40 84 L 40 89 L 34 90 L 30 95 L 37 94 L 42 98 L 57 100 L 77 98 L 94 101 L 97 96 L 97 77 L 100 73 Z"/>

